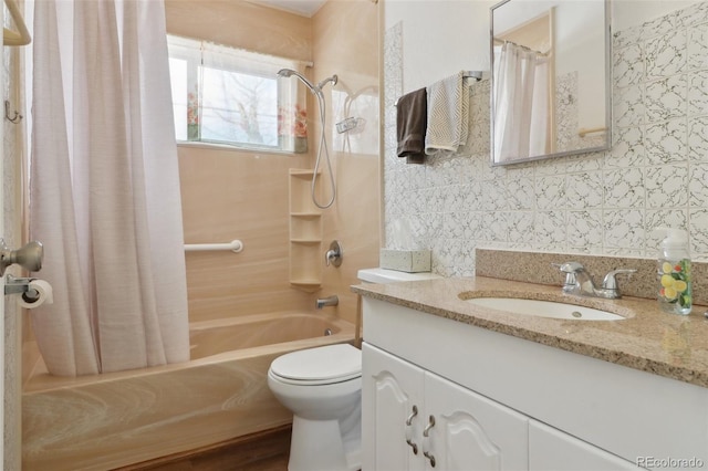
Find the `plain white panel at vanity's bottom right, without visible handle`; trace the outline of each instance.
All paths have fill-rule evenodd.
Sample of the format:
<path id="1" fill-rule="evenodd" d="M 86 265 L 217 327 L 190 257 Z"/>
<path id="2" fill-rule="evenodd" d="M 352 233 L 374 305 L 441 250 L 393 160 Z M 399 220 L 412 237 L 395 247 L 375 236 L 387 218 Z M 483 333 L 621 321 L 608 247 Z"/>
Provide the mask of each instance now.
<path id="1" fill-rule="evenodd" d="M 629 461 L 535 420 L 531 420 L 529 423 L 529 470 L 531 471 L 642 469 Z"/>

